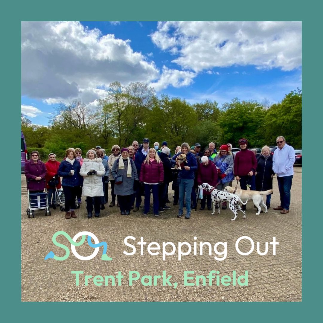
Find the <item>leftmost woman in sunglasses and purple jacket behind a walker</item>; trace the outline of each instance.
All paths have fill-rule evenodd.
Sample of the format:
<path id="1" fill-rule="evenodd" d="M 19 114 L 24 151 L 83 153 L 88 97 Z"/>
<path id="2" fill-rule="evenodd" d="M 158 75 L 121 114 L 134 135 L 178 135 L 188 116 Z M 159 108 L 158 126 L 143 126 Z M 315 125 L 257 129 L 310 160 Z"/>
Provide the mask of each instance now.
<path id="1" fill-rule="evenodd" d="M 34 150 L 30 154 L 31 158 L 26 161 L 25 176 L 29 193 L 42 193 L 45 188 L 45 163 L 40 161 L 39 152 Z"/>

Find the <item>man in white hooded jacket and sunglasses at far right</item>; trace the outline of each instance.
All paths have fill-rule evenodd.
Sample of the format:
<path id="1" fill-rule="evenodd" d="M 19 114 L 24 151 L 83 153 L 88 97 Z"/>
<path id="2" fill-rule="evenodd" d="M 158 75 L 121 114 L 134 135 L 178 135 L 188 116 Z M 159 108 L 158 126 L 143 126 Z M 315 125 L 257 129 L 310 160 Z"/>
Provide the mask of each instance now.
<path id="1" fill-rule="evenodd" d="M 295 150 L 292 146 L 287 145 L 283 136 L 277 137 L 276 143 L 278 148 L 274 151 L 273 171 L 277 175 L 280 205 L 274 207 L 274 210 L 281 210 L 280 213 L 286 214 L 289 212 Z"/>

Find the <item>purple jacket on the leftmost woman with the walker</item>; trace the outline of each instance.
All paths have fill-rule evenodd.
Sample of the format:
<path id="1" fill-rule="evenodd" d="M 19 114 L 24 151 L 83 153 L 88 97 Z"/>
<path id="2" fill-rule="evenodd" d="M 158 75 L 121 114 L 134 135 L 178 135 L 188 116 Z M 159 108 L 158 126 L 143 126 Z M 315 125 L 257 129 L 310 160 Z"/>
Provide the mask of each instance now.
<path id="1" fill-rule="evenodd" d="M 27 160 L 25 164 L 25 176 L 27 179 L 27 187 L 29 191 L 43 191 L 45 188 L 45 176 L 46 176 L 45 163 L 38 161 L 34 163 L 32 160 Z M 35 181 L 36 177 L 41 177 L 40 181 Z"/>

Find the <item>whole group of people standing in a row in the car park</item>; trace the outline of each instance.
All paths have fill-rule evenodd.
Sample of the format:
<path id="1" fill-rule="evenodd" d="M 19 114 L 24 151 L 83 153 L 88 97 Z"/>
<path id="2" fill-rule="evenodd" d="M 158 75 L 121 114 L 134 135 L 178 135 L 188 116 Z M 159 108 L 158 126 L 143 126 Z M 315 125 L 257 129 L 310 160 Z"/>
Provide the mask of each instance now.
<path id="1" fill-rule="evenodd" d="M 93 209 L 95 216 L 99 217 L 100 210 L 108 203 L 109 182 L 109 206 L 116 204 L 117 197 L 121 215 L 129 215 L 130 210 L 137 212 L 142 196 L 143 215 L 147 215 L 152 193 L 155 216 L 171 208 L 167 203 L 170 203 L 168 187 L 172 182 L 173 205 L 179 204 L 177 217 L 184 215 L 185 201 L 185 218 L 189 219 L 191 210 L 196 208 L 198 185 L 206 182 L 222 190 L 228 185 L 232 186 L 235 178 L 243 190 L 249 186 L 251 190 L 266 191 L 272 189 L 273 176 L 276 174 L 281 203 L 274 209 L 286 214 L 289 212 L 295 152 L 284 137 L 277 137 L 276 142 L 278 149 L 274 155 L 268 146 L 264 146 L 257 159 L 254 152 L 247 149 L 248 141 L 245 138 L 239 140 L 241 150 L 235 156 L 231 152 L 231 144 L 221 145 L 217 153 L 213 142 L 203 152 L 199 143 L 190 147 L 184 142 L 176 147 L 172 156 L 166 141 L 161 146 L 155 142 L 154 147 L 150 148 L 148 138 L 144 138 L 141 145 L 133 141 L 127 148 L 120 149 L 120 146 L 113 145 L 109 156 L 100 146 L 87 151 L 84 159 L 81 149 L 69 148 L 61 162 L 56 161 L 54 153 L 50 153 L 48 161 L 43 163 L 39 153 L 33 151 L 31 159 L 26 162 L 25 175 L 30 193 L 43 192 L 46 185 L 50 204 L 56 203 L 55 188 L 63 187 L 66 219 L 77 217 L 76 201 L 82 203 L 81 195 L 86 196 L 88 217 L 92 217 Z M 186 161 L 182 167 L 175 167 L 179 165 L 177 157 L 180 154 L 186 155 Z M 200 198 L 200 210 L 204 210 L 205 204 L 211 210 L 210 192 L 203 191 Z M 270 200 L 269 194 L 266 197 L 267 208 L 270 208 Z M 226 202 L 222 203 L 222 209 L 226 207 Z M 242 208 L 245 209 L 245 205 Z"/>

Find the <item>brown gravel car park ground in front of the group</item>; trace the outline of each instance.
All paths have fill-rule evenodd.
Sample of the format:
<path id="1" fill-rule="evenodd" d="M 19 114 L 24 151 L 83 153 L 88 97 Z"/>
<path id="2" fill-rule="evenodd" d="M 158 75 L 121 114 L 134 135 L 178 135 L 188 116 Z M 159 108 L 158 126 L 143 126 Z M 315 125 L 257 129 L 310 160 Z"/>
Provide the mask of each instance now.
<path id="1" fill-rule="evenodd" d="M 21 233 L 22 233 L 22 301 L 301 301 L 302 300 L 302 168 L 294 167 L 294 178 L 291 191 L 291 208 L 288 214 L 280 214 L 273 207 L 279 205 L 279 192 L 277 180 L 274 177 L 274 194 L 272 208 L 268 214 L 255 215 L 252 202 L 247 203 L 246 219 L 240 213 L 236 221 L 230 221 L 233 213 L 221 210 L 220 215 L 211 215 L 211 211 L 192 211 L 189 220 L 176 218 L 178 206 L 169 204 L 171 209 L 163 212 L 159 217 L 151 213 L 142 215 L 142 207 L 130 216 L 120 215 L 119 209 L 109 207 L 101 211 L 99 218 L 87 218 L 86 205 L 81 204 L 77 210 L 76 219 L 66 220 L 64 212 L 59 208 L 52 210 L 51 216 L 45 216 L 43 211 L 36 211 L 35 218 L 28 219 L 26 208 L 28 195 L 26 191 L 25 176 L 21 176 Z M 169 190 L 169 199 L 172 201 L 173 191 Z M 85 198 L 82 198 L 85 201 Z M 110 202 L 110 191 L 109 191 Z M 151 201 L 152 202 L 152 201 Z M 143 203 L 142 203 L 143 204 Z M 198 206 L 199 209 L 199 206 Z M 71 237 L 80 231 L 94 233 L 99 241 L 108 243 L 107 254 L 112 261 L 102 261 L 99 256 L 89 261 L 81 261 L 70 253 L 68 259 L 56 261 L 44 260 L 49 251 L 63 256 L 64 251 L 52 243 L 52 236 L 57 231 L 65 231 Z M 136 238 L 133 245 L 137 247 L 134 255 L 127 256 L 123 251 L 131 251 L 124 245 L 126 236 Z M 148 243 L 173 242 L 176 253 L 172 256 L 152 256 L 147 253 L 144 246 L 144 255 L 140 255 L 140 247 L 136 244 L 140 237 Z M 227 242 L 227 257 L 223 261 L 214 259 L 205 248 L 203 255 L 182 256 L 178 261 L 177 244 L 187 241 L 193 246 L 196 242 L 208 241 L 213 246 L 217 242 Z M 255 242 L 255 250 L 250 255 L 239 255 L 235 250 L 235 242 L 241 236 L 249 236 Z M 268 253 L 258 255 L 256 242 L 260 242 L 260 250 L 265 248 L 265 242 L 271 242 L 273 237 L 279 245 L 276 255 L 273 255 L 272 245 L 268 244 Z M 70 244 L 66 238 L 59 236 L 57 241 Z M 240 249 L 246 252 L 250 243 L 246 241 L 239 244 Z M 93 249 L 87 243 L 76 247 L 80 255 L 90 255 Z M 167 249 L 169 250 L 169 249 Z M 182 250 L 187 250 L 184 247 Z M 199 249 L 198 249 L 199 250 Z M 220 250 L 220 249 L 219 249 Z M 223 249 L 222 249 L 223 250 Z M 124 278 L 121 286 L 95 286 L 93 279 L 89 279 L 85 286 L 84 275 L 80 275 L 79 286 L 76 286 L 75 276 L 71 271 L 83 271 L 84 275 L 116 275 L 121 271 Z M 129 286 L 129 271 L 138 271 L 143 275 L 162 275 L 163 270 L 167 276 L 172 275 L 170 281 L 177 282 L 177 288 L 163 286 L 157 281 L 156 286 L 143 286 L 141 280 Z M 184 286 L 184 271 L 194 271 L 196 275 L 208 275 L 211 270 L 218 270 L 220 276 L 232 275 L 233 270 L 237 276 L 248 271 L 248 286 Z M 191 275 L 193 276 L 193 275 Z M 146 279 L 145 281 L 148 281 Z M 117 280 L 116 280 L 117 282 Z M 190 280 L 189 282 L 195 282 Z M 202 281 L 200 281 L 201 283 Z"/>

